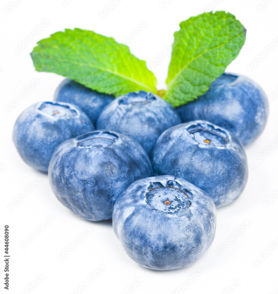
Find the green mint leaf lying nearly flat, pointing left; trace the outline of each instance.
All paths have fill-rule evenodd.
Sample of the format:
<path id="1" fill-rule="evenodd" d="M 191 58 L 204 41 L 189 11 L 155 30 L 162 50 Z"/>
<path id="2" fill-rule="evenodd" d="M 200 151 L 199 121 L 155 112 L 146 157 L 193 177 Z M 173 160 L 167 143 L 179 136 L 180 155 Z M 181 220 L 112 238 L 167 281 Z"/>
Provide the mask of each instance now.
<path id="1" fill-rule="evenodd" d="M 128 46 L 92 31 L 65 29 L 38 42 L 31 53 L 37 71 L 75 80 L 102 93 L 157 93 L 156 78 Z"/>

